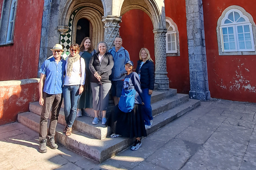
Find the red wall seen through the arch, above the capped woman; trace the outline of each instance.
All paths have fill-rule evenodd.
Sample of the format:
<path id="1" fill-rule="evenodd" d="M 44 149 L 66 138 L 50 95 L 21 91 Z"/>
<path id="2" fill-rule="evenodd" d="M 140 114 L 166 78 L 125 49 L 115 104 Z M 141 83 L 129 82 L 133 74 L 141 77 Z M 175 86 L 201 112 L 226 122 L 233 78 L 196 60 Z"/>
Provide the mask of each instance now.
<path id="1" fill-rule="evenodd" d="M 139 17 L 138 17 L 139 16 Z M 134 68 L 139 60 L 141 48 L 147 48 L 155 63 L 153 24 L 149 16 L 142 10 L 133 9 L 122 16 L 119 34 L 123 39 L 122 46 L 128 50 Z"/>

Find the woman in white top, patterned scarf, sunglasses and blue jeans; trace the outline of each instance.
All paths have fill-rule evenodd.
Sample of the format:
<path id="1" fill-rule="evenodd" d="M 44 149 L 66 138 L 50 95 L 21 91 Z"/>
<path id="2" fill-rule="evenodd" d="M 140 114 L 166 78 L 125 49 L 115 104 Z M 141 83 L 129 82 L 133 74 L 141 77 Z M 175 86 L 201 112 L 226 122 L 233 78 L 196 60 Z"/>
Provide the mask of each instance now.
<path id="1" fill-rule="evenodd" d="M 64 78 L 63 99 L 66 127 L 63 133 L 71 135 L 76 118 L 77 101 L 84 90 L 85 62 L 79 55 L 79 45 L 70 46 L 70 55 L 66 58 L 66 75 Z"/>

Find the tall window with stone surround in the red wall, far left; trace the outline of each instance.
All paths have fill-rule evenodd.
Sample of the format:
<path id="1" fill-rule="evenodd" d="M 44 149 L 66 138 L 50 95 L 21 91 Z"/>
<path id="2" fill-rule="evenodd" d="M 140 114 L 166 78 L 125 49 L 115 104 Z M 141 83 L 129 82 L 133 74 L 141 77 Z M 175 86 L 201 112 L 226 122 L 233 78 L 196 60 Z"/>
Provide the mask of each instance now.
<path id="1" fill-rule="evenodd" d="M 0 46 L 12 45 L 18 0 L 5 0 L 0 19 Z"/>

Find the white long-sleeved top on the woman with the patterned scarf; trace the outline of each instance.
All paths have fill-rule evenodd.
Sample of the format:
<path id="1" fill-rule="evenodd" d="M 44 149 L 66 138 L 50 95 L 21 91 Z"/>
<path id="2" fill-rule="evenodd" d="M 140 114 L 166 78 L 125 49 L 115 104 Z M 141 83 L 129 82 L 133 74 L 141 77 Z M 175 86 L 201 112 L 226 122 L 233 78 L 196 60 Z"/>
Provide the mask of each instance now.
<path id="1" fill-rule="evenodd" d="M 67 72 L 68 57 L 66 58 L 67 63 L 65 65 L 66 72 Z M 65 75 L 64 85 L 66 85 L 66 86 L 84 85 L 84 83 L 85 83 L 85 61 L 82 57 L 81 57 L 81 72 L 82 72 L 82 76 L 80 77 L 80 60 L 78 60 L 73 63 L 73 70 L 71 72 L 71 76 L 69 77 L 69 76 Z"/>

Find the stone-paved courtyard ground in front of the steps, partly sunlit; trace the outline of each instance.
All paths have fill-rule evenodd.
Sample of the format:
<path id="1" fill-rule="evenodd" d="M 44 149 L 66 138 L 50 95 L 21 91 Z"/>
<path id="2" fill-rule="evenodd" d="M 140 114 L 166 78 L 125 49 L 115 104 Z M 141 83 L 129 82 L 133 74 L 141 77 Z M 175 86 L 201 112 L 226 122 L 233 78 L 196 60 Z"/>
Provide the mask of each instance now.
<path id="1" fill-rule="evenodd" d="M 39 153 L 38 133 L 0 126 L 2 170 L 256 170 L 256 104 L 211 99 L 101 164 L 66 148 Z"/>

